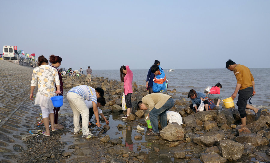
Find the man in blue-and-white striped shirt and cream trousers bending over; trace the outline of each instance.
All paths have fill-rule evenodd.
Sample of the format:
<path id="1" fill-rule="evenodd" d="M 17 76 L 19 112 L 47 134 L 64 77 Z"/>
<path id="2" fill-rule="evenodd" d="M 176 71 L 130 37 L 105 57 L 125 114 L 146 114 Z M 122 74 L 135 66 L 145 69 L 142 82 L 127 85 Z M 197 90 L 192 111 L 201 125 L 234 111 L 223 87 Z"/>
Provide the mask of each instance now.
<path id="1" fill-rule="evenodd" d="M 92 101 L 94 114 L 98 117 L 97 98 L 103 97 L 103 95 L 103 89 L 94 89 L 87 85 L 73 87 L 67 92 L 67 100 L 73 111 L 74 134 L 82 132 L 83 138 L 92 138 L 93 134 L 91 134 L 88 128 L 89 109 L 84 100 Z M 80 115 L 82 115 L 82 128 L 79 125 Z M 101 126 L 99 118 L 97 118 L 97 126 Z"/>

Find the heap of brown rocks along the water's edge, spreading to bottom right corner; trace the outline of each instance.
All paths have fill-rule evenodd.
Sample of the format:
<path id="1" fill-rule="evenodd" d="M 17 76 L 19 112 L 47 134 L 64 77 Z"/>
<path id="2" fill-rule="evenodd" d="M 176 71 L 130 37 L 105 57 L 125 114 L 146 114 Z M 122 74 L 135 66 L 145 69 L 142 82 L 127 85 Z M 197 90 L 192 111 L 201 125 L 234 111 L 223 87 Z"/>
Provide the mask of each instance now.
<path id="1" fill-rule="evenodd" d="M 65 88 L 82 84 L 103 88 L 107 103 L 101 109 L 107 115 L 110 114 L 108 111 L 122 114 L 123 83 L 103 77 L 96 77 L 87 83 L 85 76 L 64 77 L 63 81 Z M 138 110 L 137 102 L 148 93 L 144 86 L 137 86 L 136 82 L 133 82 L 133 91 L 131 98 L 133 115 L 128 116 L 127 123 L 131 126 L 146 125 L 144 118 L 148 113 Z M 193 163 L 218 163 L 228 160 L 270 162 L 270 112 L 267 109 L 262 110 L 259 120 L 256 121 L 254 112 L 246 110 L 247 125 L 240 127 L 236 126 L 240 123 L 240 115 L 236 108 L 214 108 L 214 110 L 195 113 L 189 108 L 189 99 L 179 96 L 180 93 L 186 94 L 177 92 L 175 89 L 168 90 L 168 94 L 175 100 L 175 106 L 171 111 L 176 111 L 182 116 L 182 125 L 169 123 L 161 130 L 160 136 L 147 136 L 145 133 L 138 132 L 134 137 L 141 140 L 137 145 L 137 152 L 123 147 L 125 145 L 121 144 L 122 141 L 103 135 L 101 144 L 107 147 L 107 155 L 104 158 L 113 156 L 114 162 L 161 160 L 171 162 L 171 158 L 174 158 L 174 162 Z M 120 124 L 117 126 L 119 130 L 125 127 Z M 142 140 L 142 136 L 146 142 Z M 119 139 L 122 138 L 119 137 Z M 150 150 L 147 153 L 140 152 L 142 148 Z"/>

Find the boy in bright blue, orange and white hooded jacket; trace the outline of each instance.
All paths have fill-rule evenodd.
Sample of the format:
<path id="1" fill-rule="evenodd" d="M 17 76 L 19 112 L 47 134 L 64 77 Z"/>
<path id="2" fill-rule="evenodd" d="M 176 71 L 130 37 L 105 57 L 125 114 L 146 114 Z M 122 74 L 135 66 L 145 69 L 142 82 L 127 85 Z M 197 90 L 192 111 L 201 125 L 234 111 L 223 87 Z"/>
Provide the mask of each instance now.
<path id="1" fill-rule="evenodd" d="M 154 64 L 151 67 L 151 72 L 155 75 L 153 82 L 153 92 L 166 91 L 166 76 L 160 66 Z"/>

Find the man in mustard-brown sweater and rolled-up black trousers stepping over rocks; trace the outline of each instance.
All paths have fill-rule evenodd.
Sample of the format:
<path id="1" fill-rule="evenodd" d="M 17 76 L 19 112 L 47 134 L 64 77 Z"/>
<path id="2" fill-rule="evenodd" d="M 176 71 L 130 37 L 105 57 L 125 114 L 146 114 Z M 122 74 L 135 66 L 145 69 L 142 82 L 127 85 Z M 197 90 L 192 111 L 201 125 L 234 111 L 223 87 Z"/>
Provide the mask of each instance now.
<path id="1" fill-rule="evenodd" d="M 254 108 L 247 104 L 247 100 L 256 94 L 254 78 L 250 73 L 249 68 L 241 64 L 235 64 L 235 62 L 230 59 L 226 62 L 226 68 L 233 71 L 236 77 L 237 84 L 231 97 L 232 99 L 235 99 L 238 92 L 238 101 L 236 105 L 238 106 L 242 122 L 240 126 L 246 126 L 246 109 L 251 109 L 255 112 L 255 120 L 259 119 L 262 111 L 261 109 Z"/>

